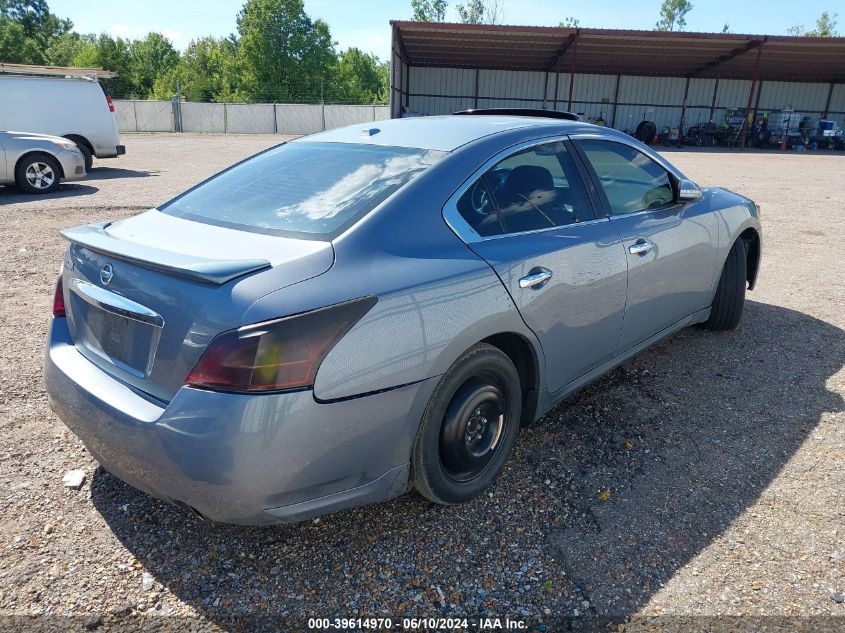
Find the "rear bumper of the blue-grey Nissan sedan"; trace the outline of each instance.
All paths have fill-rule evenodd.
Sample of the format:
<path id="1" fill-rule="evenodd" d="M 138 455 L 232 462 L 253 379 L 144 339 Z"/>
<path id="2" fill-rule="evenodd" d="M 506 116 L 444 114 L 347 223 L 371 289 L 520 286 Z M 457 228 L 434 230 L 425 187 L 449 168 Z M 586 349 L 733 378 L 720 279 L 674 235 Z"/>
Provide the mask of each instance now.
<path id="1" fill-rule="evenodd" d="M 224 394 L 183 387 L 150 402 L 85 359 L 54 319 L 50 406 L 111 473 L 214 521 L 301 521 L 385 501 L 408 486 L 430 379 L 342 402 L 311 391 Z"/>

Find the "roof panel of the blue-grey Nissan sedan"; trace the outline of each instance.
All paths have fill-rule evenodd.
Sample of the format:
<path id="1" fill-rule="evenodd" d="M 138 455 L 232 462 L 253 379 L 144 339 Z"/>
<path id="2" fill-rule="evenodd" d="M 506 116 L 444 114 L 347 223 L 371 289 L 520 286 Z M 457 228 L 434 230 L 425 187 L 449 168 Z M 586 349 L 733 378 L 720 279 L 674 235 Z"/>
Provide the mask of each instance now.
<path id="1" fill-rule="evenodd" d="M 318 132 L 296 142 L 363 143 L 450 152 L 484 136 L 527 127 L 548 127 L 564 134 L 585 128 L 581 122 L 542 117 L 446 115 L 388 119 Z"/>

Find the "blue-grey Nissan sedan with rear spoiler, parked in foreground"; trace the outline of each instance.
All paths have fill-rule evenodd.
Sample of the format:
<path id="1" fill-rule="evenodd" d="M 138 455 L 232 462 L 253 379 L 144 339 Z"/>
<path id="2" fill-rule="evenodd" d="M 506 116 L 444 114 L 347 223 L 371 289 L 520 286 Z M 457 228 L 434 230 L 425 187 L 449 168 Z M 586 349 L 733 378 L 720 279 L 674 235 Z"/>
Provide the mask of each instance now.
<path id="1" fill-rule="evenodd" d="M 522 424 L 736 327 L 762 244 L 751 200 L 513 112 L 304 137 L 63 235 L 53 410 L 133 486 L 246 524 L 476 497 Z"/>

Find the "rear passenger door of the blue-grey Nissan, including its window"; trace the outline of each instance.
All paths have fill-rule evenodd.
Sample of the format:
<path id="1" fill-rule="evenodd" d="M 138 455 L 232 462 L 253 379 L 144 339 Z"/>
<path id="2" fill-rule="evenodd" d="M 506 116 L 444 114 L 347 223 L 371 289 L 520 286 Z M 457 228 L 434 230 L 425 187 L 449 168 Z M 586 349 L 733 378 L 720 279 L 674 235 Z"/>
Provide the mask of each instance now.
<path id="1" fill-rule="evenodd" d="M 549 391 L 613 356 L 625 307 L 622 243 L 606 217 L 596 218 L 573 151 L 562 140 L 513 148 L 446 209 L 537 335 Z"/>

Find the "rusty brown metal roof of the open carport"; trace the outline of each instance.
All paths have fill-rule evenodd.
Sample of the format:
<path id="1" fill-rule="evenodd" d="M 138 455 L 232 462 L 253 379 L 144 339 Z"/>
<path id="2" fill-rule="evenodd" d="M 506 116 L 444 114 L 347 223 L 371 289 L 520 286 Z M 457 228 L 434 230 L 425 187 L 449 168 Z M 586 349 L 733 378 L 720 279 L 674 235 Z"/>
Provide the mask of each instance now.
<path id="1" fill-rule="evenodd" d="M 845 82 L 845 37 L 391 22 L 411 66 Z"/>

